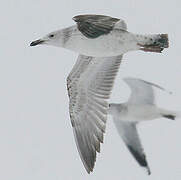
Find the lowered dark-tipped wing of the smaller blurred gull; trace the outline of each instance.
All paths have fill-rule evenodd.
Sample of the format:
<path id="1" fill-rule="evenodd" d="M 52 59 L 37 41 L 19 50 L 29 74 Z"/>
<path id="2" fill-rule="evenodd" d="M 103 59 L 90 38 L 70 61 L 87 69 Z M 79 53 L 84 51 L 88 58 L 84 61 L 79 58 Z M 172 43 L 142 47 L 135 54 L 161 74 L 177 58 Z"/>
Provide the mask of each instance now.
<path id="1" fill-rule="evenodd" d="M 144 153 L 136 129 L 136 124 L 130 122 L 124 122 L 121 121 L 120 119 L 116 119 L 115 117 L 113 119 L 121 138 L 125 142 L 127 148 L 129 149 L 133 157 L 136 159 L 136 161 L 139 163 L 140 166 L 147 169 L 148 174 L 151 174 L 150 168 L 146 161 L 146 155 Z"/>

